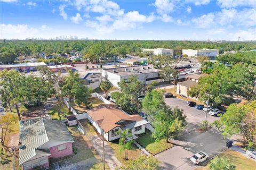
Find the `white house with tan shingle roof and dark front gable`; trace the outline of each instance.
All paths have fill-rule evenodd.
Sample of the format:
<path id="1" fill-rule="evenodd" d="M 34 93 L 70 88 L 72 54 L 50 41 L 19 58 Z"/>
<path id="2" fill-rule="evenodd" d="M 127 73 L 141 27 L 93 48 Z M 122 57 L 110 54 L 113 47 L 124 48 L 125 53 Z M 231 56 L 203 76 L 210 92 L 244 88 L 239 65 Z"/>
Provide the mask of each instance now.
<path id="1" fill-rule="evenodd" d="M 129 115 L 115 105 L 101 104 L 87 113 L 88 120 L 107 141 L 121 138 L 120 131 L 126 129 L 132 134 L 126 141 L 137 139 L 138 134 L 145 133 L 145 128 L 154 130 L 140 115 Z"/>

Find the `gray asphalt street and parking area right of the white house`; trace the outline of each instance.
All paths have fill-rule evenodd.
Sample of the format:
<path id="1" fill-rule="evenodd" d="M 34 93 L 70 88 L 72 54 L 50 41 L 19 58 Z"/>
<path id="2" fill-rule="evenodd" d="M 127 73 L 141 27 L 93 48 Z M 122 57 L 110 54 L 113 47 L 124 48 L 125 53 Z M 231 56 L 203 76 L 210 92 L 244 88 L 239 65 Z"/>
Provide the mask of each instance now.
<path id="1" fill-rule="evenodd" d="M 197 151 L 205 151 L 211 158 L 227 148 L 225 146 L 227 139 L 224 139 L 217 130 L 211 129 L 206 132 L 198 130 L 201 121 L 205 118 L 205 112 L 187 106 L 186 101 L 179 98 L 165 98 L 165 102 L 171 107 L 178 106 L 183 109 L 187 115 L 187 126 L 181 137 L 171 140 L 176 144 L 174 147 L 154 156 L 161 160 L 161 169 L 195 169 L 197 165 L 191 163 L 189 158 Z M 218 119 L 219 117 L 207 116 L 210 123 Z"/>

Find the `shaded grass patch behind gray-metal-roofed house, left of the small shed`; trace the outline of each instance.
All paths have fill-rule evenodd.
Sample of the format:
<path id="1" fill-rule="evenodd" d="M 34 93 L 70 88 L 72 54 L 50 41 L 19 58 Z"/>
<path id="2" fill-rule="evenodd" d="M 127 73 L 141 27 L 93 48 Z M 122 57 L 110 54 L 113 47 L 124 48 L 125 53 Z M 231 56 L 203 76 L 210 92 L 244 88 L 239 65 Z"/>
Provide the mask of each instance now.
<path id="1" fill-rule="evenodd" d="M 57 103 L 47 111 L 52 116 L 53 120 L 65 120 L 71 113 L 68 112 L 68 107 L 65 104 Z"/>

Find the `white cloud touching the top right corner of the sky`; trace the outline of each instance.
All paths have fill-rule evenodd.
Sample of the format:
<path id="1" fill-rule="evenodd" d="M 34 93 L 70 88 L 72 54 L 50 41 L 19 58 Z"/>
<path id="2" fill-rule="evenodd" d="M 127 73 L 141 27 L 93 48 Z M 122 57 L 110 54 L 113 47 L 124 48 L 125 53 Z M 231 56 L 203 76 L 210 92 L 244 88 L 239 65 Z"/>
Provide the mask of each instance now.
<path id="1" fill-rule="evenodd" d="M 217 4 L 222 8 L 233 8 L 238 6 L 256 7 L 254 0 L 218 0 Z"/>

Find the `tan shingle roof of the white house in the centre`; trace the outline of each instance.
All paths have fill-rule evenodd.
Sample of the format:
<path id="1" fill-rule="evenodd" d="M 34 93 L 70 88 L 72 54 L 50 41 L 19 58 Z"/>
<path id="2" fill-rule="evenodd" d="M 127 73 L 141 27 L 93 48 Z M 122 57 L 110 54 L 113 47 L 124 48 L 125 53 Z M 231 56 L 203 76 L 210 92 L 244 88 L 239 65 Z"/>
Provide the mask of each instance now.
<path id="1" fill-rule="evenodd" d="M 126 114 L 115 105 L 101 104 L 97 107 L 93 107 L 87 113 L 105 132 L 109 132 L 117 126 L 124 127 L 125 124 L 123 122 L 118 123 L 119 121 L 136 122 L 143 120 L 140 115 Z"/>

